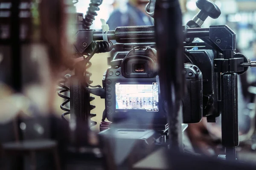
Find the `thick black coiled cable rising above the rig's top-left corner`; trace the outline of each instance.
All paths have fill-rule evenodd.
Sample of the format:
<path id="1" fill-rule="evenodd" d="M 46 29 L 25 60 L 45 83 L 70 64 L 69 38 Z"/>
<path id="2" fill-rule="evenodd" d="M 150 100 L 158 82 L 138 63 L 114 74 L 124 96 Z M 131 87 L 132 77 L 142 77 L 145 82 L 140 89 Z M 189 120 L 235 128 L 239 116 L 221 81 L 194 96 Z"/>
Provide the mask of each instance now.
<path id="1" fill-rule="evenodd" d="M 90 29 L 90 26 L 93 25 L 93 21 L 98 15 L 97 11 L 99 11 L 101 3 L 101 0 L 90 0 L 89 7 L 84 18 L 84 29 Z"/>

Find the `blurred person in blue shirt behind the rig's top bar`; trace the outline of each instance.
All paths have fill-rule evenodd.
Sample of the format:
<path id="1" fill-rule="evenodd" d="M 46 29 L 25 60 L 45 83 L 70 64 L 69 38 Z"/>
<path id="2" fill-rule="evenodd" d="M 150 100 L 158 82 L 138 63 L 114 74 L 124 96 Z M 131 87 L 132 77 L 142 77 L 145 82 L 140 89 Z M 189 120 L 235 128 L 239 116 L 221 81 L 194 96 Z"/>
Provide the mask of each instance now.
<path id="1" fill-rule="evenodd" d="M 107 24 L 110 30 L 119 26 L 153 26 L 153 19 L 145 13 L 148 0 L 117 1 L 119 8 L 110 15 Z"/>

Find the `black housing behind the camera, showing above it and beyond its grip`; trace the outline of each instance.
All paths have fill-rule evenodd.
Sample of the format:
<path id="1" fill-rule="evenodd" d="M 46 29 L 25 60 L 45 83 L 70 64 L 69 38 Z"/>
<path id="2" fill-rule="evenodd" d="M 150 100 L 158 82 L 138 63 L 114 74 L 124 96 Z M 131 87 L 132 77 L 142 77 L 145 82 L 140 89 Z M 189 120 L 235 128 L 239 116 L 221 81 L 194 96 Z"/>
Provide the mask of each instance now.
<path id="1" fill-rule="evenodd" d="M 217 87 L 220 85 L 219 75 L 214 72 L 213 60 L 216 58 L 221 58 L 216 50 L 212 50 L 211 47 L 198 44 L 198 49 L 191 50 L 193 47 L 186 47 L 186 52 L 184 53 L 185 63 L 190 63 L 198 66 L 203 75 L 203 116 L 207 117 L 209 122 L 215 122 L 215 117 L 218 117 L 221 112 L 221 105 L 218 100 L 221 99 L 219 96 L 220 92 Z M 125 54 L 128 54 L 129 49 L 133 47 L 141 46 L 151 46 L 155 48 L 154 43 L 128 43 L 128 44 L 116 44 L 111 51 L 111 57 L 108 61 L 113 59 L 123 59 Z"/>

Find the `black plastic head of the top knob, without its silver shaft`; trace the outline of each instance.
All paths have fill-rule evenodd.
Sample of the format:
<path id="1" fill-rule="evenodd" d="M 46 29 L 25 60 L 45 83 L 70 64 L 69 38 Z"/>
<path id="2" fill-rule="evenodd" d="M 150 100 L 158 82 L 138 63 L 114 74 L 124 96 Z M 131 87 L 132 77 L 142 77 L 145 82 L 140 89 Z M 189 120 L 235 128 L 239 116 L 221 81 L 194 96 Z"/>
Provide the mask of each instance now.
<path id="1" fill-rule="evenodd" d="M 205 21 L 208 16 L 216 19 L 221 15 L 221 10 L 211 0 L 197 0 L 196 6 L 201 9 L 201 15 L 197 17 L 203 21 Z"/>

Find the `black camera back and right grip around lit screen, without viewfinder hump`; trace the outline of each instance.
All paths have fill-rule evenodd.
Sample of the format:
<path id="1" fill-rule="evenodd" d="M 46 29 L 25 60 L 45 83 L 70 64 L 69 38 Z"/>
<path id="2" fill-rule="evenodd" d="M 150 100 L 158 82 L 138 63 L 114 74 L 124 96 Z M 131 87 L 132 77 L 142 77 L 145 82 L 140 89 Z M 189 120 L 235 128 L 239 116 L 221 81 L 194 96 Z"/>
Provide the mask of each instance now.
<path id="1" fill-rule="evenodd" d="M 136 56 L 134 56 L 136 57 Z M 185 77 L 187 94 L 183 99 L 183 123 L 198 123 L 203 116 L 203 78 L 200 69 L 195 65 L 185 64 Z M 166 107 L 159 93 L 159 110 L 118 110 L 116 103 L 116 83 L 123 84 L 152 84 L 158 82 L 158 76 L 152 78 L 126 78 L 121 73 L 121 67 L 108 68 L 104 75 L 103 87 L 105 88 L 105 109 L 107 119 L 114 123 L 133 125 L 140 123 L 141 127 L 155 127 L 166 125 Z M 159 88 L 159 87 L 158 87 Z M 159 89 L 160 91 L 160 89 Z"/>

